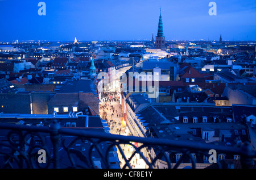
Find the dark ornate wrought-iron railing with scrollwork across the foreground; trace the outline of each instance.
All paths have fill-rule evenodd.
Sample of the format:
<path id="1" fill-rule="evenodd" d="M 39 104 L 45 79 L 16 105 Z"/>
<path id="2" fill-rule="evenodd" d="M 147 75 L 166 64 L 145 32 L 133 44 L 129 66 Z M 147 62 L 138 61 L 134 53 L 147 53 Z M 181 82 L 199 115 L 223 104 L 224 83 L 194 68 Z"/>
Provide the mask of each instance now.
<path id="1" fill-rule="evenodd" d="M 158 168 L 156 166 L 158 160 L 164 160 L 168 168 L 179 168 L 185 158 L 190 160 L 192 168 L 196 168 L 195 158 L 191 154 L 196 153 L 197 156 L 203 154 L 209 157 L 210 149 L 217 152 L 239 154 L 242 168 L 250 168 L 253 159 L 256 158 L 256 152 L 251 150 L 249 143 L 244 143 L 241 148 L 234 148 L 233 146 L 216 146 L 187 141 L 112 135 L 105 132 L 61 128 L 56 120 L 49 127 L 0 124 L 0 129 L 1 132 L 6 131 L 6 136 L 2 137 L 0 141 L 1 168 L 99 168 L 94 159 L 94 153 L 97 152 L 101 167 L 109 169 L 113 168 L 110 152 L 114 147 L 117 148 L 124 162 L 120 168 L 133 168 L 131 160 L 136 154 L 139 154 L 147 168 Z M 64 136 L 72 137 L 72 140 L 67 143 L 65 142 L 67 139 L 62 138 Z M 89 142 L 87 151 L 81 152 L 81 150 L 75 149 L 74 145 L 77 142 Z M 131 142 L 137 142 L 138 145 Z M 126 152 L 122 149 L 125 144 L 134 148 L 130 157 L 127 157 Z M 152 148 L 158 149 L 158 153 L 151 154 L 150 158 L 146 157 L 144 152 L 150 154 Z M 38 161 L 39 149 L 43 149 L 46 154 L 45 163 Z M 166 153 L 174 149 L 183 154 L 177 162 L 171 162 Z M 67 158 L 68 161 L 65 161 L 63 166 L 61 160 L 64 158 Z M 67 162 L 69 163 L 67 164 Z M 216 164 L 218 168 L 222 168 L 220 161 L 217 161 Z"/>

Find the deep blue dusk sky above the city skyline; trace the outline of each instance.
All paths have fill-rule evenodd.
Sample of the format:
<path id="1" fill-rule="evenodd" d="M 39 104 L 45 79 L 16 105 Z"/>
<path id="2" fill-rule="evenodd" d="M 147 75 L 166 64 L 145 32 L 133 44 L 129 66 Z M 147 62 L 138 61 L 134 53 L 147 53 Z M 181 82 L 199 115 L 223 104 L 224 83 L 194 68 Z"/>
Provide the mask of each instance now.
<path id="1" fill-rule="evenodd" d="M 256 0 L 0 0 L 0 41 L 150 40 L 159 7 L 166 40 L 256 40 Z"/>

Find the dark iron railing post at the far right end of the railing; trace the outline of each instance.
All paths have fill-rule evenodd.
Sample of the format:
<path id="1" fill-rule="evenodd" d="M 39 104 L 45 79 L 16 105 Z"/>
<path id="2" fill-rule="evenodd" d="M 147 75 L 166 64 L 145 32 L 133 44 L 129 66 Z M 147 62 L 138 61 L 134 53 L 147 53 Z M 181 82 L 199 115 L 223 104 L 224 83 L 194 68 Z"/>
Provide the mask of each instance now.
<path id="1" fill-rule="evenodd" d="M 242 150 L 242 154 L 241 154 L 242 169 L 250 169 L 253 158 L 250 157 L 252 149 L 248 141 L 246 141 L 245 144 L 242 145 L 241 150 Z"/>

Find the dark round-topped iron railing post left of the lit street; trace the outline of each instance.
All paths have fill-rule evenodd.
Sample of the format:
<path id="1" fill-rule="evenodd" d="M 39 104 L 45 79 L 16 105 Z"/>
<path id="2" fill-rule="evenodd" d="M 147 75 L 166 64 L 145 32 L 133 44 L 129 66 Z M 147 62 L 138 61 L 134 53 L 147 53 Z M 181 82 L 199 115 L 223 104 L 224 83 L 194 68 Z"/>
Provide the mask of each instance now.
<path id="1" fill-rule="evenodd" d="M 52 148 L 53 148 L 53 168 L 57 169 L 60 168 L 59 165 L 59 143 L 60 143 L 60 135 L 59 135 L 60 124 L 57 122 L 56 119 L 52 121 L 50 124 L 50 136 L 52 141 Z"/>

